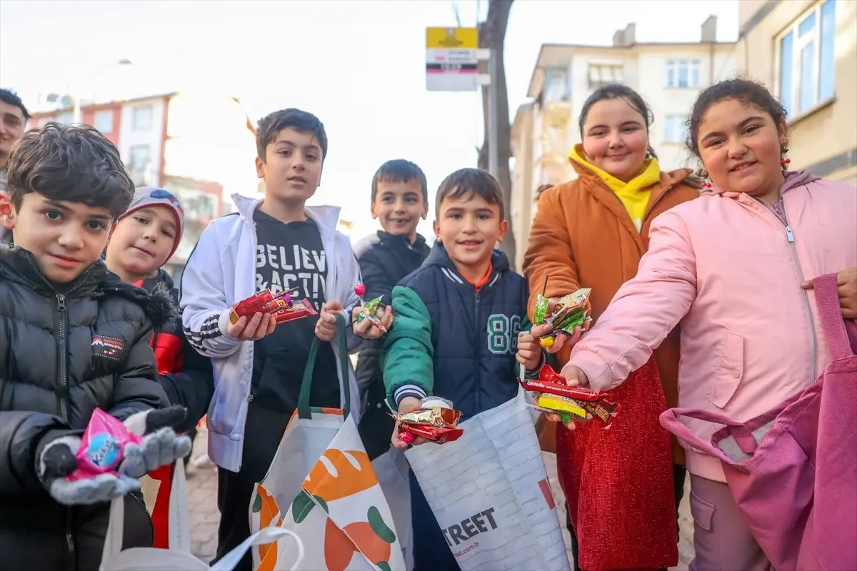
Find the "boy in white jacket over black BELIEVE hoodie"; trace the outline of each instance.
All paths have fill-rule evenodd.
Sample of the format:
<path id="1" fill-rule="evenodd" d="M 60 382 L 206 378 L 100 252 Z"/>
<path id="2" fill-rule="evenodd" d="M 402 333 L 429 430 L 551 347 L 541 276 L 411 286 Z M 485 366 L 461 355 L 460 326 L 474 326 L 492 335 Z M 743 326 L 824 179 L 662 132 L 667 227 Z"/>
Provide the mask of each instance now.
<path id="1" fill-rule="evenodd" d="M 263 117 L 256 133 L 256 172 L 264 199 L 233 195 L 237 213 L 202 232 L 182 278 L 185 333 L 211 357 L 214 398 L 208 409 L 208 455 L 219 466 L 218 557 L 249 537 L 253 487 L 265 477 L 279 439 L 297 407 L 313 336 L 323 343 L 315 361 L 310 403 L 342 407 L 351 384 L 351 411 L 359 411 L 353 371 L 340 378 L 334 313 L 359 302 L 360 269 L 351 242 L 336 230 L 338 206 L 306 206 L 321 182 L 327 134 L 314 115 L 297 109 Z M 229 323 L 237 302 L 271 288 L 299 290 L 318 317 L 279 324 L 256 313 Z M 350 315 L 350 313 L 349 313 Z M 350 330 L 349 351 L 360 348 Z M 238 569 L 252 568 L 248 554 Z"/>

